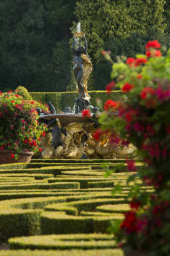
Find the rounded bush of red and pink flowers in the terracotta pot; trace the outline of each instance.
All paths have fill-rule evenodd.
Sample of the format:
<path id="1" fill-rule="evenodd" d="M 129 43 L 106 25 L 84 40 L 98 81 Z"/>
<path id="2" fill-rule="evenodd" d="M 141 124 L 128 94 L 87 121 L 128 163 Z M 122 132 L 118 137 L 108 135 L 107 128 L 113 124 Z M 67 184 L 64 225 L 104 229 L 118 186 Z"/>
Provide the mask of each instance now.
<path id="1" fill-rule="evenodd" d="M 15 159 L 21 151 L 38 151 L 46 128 L 38 122 L 37 108 L 49 113 L 45 105 L 25 100 L 17 92 L 0 92 L 0 150 L 13 150 L 11 157 Z"/>

